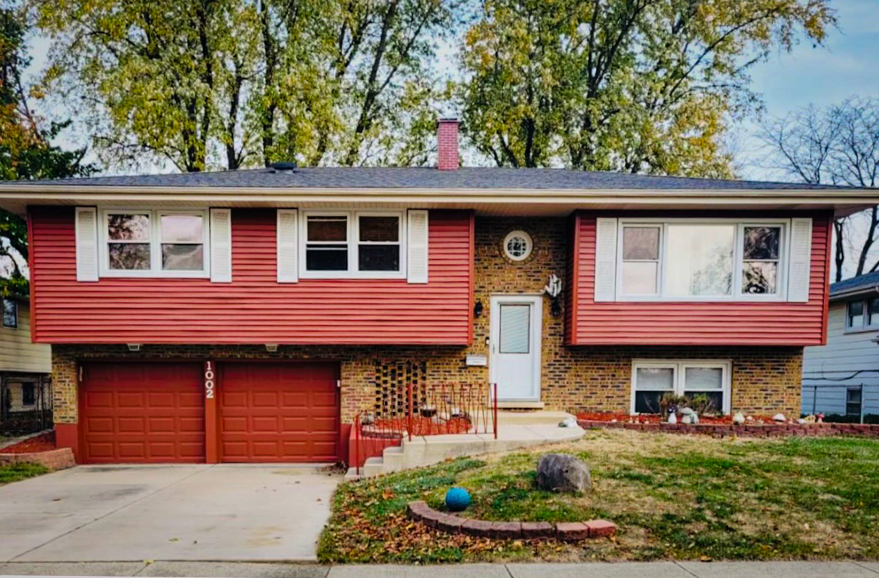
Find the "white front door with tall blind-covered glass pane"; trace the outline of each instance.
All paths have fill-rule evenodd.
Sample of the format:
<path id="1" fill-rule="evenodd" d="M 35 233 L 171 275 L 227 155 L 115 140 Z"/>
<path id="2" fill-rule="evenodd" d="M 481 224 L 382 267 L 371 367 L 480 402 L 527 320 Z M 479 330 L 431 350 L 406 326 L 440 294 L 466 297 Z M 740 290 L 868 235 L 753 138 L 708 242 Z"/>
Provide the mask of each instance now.
<path id="1" fill-rule="evenodd" d="M 500 401 L 540 401 L 541 298 L 491 297 L 489 374 Z"/>

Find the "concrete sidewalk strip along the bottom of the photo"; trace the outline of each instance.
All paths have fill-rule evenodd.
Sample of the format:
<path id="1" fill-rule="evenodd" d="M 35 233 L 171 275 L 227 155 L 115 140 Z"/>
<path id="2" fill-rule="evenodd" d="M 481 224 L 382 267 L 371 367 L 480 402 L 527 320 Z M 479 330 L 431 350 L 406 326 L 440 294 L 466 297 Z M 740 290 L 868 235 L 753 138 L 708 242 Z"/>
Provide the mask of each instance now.
<path id="1" fill-rule="evenodd" d="M 879 578 L 879 562 L 621 562 L 317 566 L 249 562 L 7 562 L 0 575 L 200 576 L 215 578 Z"/>

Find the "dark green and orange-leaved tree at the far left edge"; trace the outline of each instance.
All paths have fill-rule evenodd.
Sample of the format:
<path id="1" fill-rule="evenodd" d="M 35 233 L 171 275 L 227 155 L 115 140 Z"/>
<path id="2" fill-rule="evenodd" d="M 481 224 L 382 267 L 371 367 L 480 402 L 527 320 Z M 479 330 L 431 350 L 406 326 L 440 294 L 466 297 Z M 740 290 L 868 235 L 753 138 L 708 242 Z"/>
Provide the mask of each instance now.
<path id="1" fill-rule="evenodd" d="M 33 112 L 31 91 L 22 80 L 30 62 L 25 33 L 23 12 L 0 4 L 0 180 L 89 175 L 94 168 L 82 162 L 84 148 L 64 150 L 51 144 L 69 122 L 42 128 Z M 0 209 L 0 295 L 27 293 L 26 263 L 25 220 Z"/>

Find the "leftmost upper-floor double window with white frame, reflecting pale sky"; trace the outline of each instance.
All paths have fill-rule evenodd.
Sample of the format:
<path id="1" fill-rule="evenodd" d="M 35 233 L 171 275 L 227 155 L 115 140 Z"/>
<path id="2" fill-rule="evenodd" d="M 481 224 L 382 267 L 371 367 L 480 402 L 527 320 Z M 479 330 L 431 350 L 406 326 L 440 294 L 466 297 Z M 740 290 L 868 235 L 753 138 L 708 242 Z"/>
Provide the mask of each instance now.
<path id="1" fill-rule="evenodd" d="M 101 275 L 207 277 L 207 221 L 207 211 L 103 211 Z"/>

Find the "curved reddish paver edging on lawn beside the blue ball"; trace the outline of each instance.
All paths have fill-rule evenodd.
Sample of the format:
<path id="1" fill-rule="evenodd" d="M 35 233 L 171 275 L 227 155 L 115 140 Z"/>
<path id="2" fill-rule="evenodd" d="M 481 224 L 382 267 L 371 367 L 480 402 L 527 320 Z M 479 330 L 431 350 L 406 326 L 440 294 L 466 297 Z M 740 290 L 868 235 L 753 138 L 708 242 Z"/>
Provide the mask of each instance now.
<path id="1" fill-rule="evenodd" d="M 607 522 L 607 520 L 559 522 L 558 524 L 548 522 L 487 522 L 438 512 L 428 506 L 426 502 L 410 502 L 406 511 L 411 519 L 431 528 L 450 534 L 467 534 L 476 538 L 558 538 L 565 542 L 574 542 L 585 538 L 612 536 L 616 532 L 616 524 Z"/>

